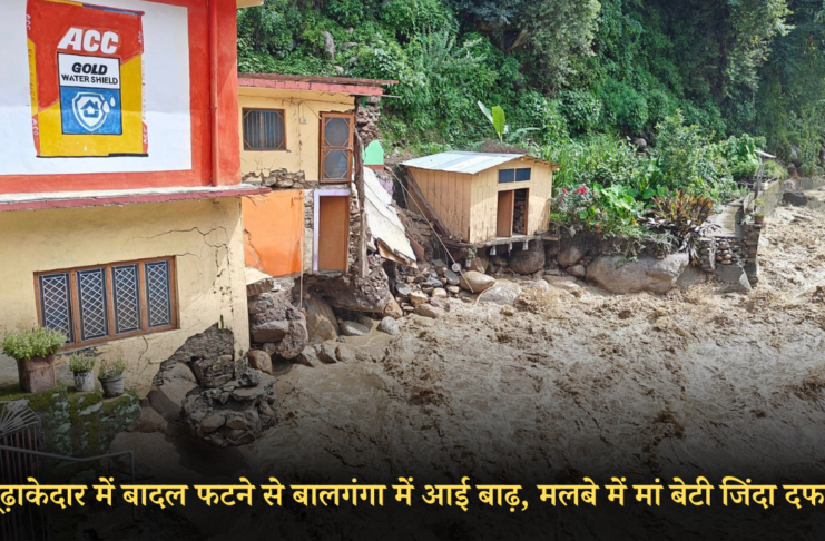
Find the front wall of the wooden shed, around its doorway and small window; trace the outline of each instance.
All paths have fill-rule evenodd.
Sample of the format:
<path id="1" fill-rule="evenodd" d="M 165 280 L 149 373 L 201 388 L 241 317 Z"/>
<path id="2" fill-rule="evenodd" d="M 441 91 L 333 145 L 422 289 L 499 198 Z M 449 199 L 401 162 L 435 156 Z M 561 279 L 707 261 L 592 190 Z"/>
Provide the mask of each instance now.
<path id="1" fill-rule="evenodd" d="M 500 169 L 531 167 L 529 183 L 499 184 Z M 484 243 L 495 238 L 499 191 L 530 189 L 528 210 L 528 235 L 548 229 L 550 220 L 550 197 L 552 196 L 553 173 L 543 164 L 519 159 L 488 169 L 473 176 L 471 197 L 470 242 Z"/>

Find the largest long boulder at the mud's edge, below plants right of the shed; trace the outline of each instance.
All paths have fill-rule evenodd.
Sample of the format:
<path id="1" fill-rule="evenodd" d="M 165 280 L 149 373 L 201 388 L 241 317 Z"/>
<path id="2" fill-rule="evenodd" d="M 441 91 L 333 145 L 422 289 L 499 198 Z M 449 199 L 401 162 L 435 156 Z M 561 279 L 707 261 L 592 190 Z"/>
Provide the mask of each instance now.
<path id="1" fill-rule="evenodd" d="M 622 256 L 601 256 L 588 265 L 587 279 L 611 293 L 661 295 L 676 285 L 688 264 L 687 254 L 671 254 L 664 259 L 641 256 L 634 262 L 626 262 Z"/>

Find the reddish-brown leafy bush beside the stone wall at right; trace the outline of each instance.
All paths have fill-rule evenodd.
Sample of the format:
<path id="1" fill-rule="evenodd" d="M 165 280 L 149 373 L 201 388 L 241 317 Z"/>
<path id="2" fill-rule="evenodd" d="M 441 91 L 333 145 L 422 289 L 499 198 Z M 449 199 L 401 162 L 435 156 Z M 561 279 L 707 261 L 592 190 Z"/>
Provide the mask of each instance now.
<path id="1" fill-rule="evenodd" d="M 680 243 L 679 252 L 687 252 L 695 262 L 699 239 L 718 227 L 707 222 L 713 215 L 711 198 L 679 190 L 669 197 L 654 198 L 654 206 L 642 223 L 652 230 L 670 232 Z"/>

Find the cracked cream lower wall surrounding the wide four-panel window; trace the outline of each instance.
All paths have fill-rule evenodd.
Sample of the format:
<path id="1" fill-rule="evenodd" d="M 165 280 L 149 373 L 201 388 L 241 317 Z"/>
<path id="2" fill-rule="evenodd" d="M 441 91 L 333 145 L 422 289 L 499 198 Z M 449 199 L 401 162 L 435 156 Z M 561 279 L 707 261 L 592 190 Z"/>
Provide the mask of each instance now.
<path id="1" fill-rule="evenodd" d="M 98 356 L 124 358 L 145 393 L 158 363 L 212 325 L 248 350 L 238 199 L 0 213 L 0 337 L 37 325 L 35 273 L 175 256 L 179 328 L 97 344 Z"/>

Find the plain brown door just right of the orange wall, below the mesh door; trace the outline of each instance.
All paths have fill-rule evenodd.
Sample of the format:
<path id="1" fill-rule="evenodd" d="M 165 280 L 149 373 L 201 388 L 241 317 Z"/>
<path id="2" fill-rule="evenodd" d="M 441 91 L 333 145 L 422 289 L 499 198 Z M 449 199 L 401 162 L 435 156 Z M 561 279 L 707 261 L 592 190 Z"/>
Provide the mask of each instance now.
<path id="1" fill-rule="evenodd" d="M 350 197 L 318 198 L 318 272 L 345 273 L 350 263 Z"/>

